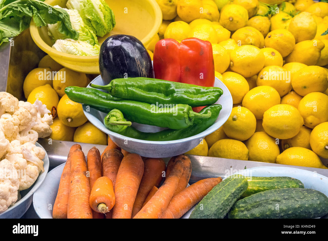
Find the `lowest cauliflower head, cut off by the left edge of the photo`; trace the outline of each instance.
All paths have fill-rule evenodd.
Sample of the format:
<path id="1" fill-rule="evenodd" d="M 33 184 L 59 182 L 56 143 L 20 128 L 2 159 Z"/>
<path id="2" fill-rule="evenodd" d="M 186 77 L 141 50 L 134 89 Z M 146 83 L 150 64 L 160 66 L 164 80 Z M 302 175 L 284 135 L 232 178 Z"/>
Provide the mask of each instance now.
<path id="1" fill-rule="evenodd" d="M 6 159 L 0 161 L 0 213 L 5 212 L 18 198 L 19 180 L 15 167 Z"/>

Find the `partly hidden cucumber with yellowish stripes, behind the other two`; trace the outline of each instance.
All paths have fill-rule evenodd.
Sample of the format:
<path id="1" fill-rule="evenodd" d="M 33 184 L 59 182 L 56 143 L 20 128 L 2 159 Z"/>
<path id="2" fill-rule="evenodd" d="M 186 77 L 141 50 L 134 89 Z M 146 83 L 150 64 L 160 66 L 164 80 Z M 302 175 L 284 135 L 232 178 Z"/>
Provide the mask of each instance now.
<path id="1" fill-rule="evenodd" d="M 248 188 L 241 196 L 247 197 L 259 192 L 286 187 L 304 188 L 304 184 L 289 176 L 253 176 L 248 177 Z"/>

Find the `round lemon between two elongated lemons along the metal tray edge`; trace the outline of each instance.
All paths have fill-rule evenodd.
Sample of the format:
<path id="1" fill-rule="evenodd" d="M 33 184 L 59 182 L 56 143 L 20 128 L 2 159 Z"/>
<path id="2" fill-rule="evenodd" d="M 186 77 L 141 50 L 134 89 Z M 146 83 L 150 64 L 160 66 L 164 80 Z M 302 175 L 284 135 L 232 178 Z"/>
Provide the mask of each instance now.
<path id="1" fill-rule="evenodd" d="M 255 132 L 245 144 L 251 161 L 275 163 L 280 153 L 276 139 L 262 131 Z"/>

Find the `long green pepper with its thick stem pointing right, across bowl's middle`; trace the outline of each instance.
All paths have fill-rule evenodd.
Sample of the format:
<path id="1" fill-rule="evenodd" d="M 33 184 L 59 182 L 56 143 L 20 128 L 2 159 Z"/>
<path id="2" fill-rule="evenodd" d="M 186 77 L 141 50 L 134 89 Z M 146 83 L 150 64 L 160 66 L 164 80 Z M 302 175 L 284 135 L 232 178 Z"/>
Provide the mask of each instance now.
<path id="1" fill-rule="evenodd" d="M 157 108 L 144 102 L 129 100 L 110 100 L 100 97 L 104 93 L 97 89 L 69 86 L 65 93 L 74 102 L 100 107 L 101 109 L 119 109 L 124 117 L 140 124 L 182 129 L 190 126 L 195 118 L 209 118 L 211 112 L 199 114 L 187 104 L 171 105 L 172 107 Z M 101 92 L 102 94 L 100 94 Z"/>

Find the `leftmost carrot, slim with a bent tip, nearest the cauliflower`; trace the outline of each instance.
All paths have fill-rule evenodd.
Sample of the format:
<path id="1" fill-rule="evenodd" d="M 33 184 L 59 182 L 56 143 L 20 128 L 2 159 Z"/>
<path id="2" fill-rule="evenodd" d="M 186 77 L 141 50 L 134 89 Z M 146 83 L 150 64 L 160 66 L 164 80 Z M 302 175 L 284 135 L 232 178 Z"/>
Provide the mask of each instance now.
<path id="1" fill-rule="evenodd" d="M 76 149 L 81 149 L 79 144 L 72 145 L 70 152 L 68 153 L 66 164 L 64 166 L 64 170 L 60 177 L 59 188 L 55 200 L 55 204 L 53 205 L 52 217 L 53 218 L 67 218 L 67 203 L 68 203 L 68 194 L 70 190 L 70 159 L 72 153 Z"/>

